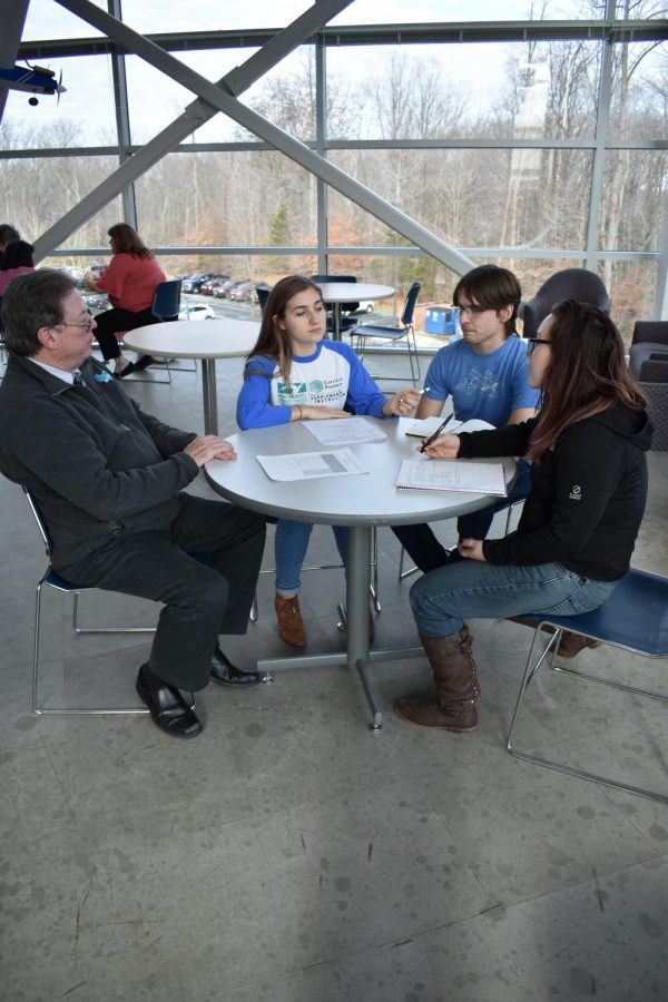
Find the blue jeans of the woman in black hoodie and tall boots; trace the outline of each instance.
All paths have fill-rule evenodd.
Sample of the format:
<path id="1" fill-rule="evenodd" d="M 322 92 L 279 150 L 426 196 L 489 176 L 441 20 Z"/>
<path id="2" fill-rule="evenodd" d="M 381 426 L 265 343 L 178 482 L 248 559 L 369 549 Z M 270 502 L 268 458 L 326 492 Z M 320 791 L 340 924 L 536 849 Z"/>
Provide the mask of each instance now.
<path id="1" fill-rule="evenodd" d="M 606 601 L 616 584 L 584 578 L 561 563 L 518 567 L 462 560 L 420 578 L 411 588 L 411 608 L 421 636 L 449 637 L 468 619 L 589 612 Z"/>

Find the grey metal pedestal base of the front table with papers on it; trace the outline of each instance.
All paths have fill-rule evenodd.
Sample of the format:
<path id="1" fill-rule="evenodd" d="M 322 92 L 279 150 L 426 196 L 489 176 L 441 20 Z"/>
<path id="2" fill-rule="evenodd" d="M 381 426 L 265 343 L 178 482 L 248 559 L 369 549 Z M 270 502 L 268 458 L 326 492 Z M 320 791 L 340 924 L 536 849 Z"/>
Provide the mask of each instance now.
<path id="1" fill-rule="evenodd" d="M 345 651 L 324 655 L 297 655 L 288 658 L 263 658 L 257 661 L 261 672 L 285 668 L 341 668 L 356 669 L 371 709 L 371 730 L 380 730 L 383 715 L 379 707 L 369 665 L 373 661 L 394 661 L 424 657 L 423 647 L 389 647 L 369 649 L 369 587 L 371 583 L 371 525 L 353 525 L 348 529 L 346 573 L 347 637 Z"/>

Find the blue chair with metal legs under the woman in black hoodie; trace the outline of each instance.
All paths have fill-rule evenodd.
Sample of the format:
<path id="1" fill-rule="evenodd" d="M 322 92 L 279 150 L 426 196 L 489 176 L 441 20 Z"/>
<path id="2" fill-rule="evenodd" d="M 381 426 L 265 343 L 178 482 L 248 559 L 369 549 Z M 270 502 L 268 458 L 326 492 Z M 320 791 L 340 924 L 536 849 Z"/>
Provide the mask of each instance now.
<path id="1" fill-rule="evenodd" d="M 590 779 L 592 783 L 611 786 L 615 789 L 623 789 L 627 793 L 638 794 L 639 796 L 648 797 L 651 800 L 668 804 L 668 795 L 666 794 L 655 793 L 641 786 L 631 786 L 617 779 L 587 773 L 574 766 L 557 763 L 547 758 L 540 758 L 537 755 L 530 755 L 525 752 L 519 752 L 512 744 L 527 688 L 548 658 L 551 666 L 558 671 L 578 675 L 580 678 L 586 678 L 590 681 L 600 682 L 606 686 L 612 686 L 616 689 L 632 692 L 636 696 L 647 696 L 652 699 L 668 701 L 668 696 L 660 692 L 625 685 L 607 678 L 598 678 L 576 668 L 554 664 L 554 656 L 559 647 L 562 630 L 571 630 L 572 632 L 580 633 L 584 637 L 590 637 L 593 640 L 600 640 L 602 644 L 608 644 L 611 647 L 628 650 L 635 655 L 644 655 L 648 658 L 668 657 L 668 578 L 631 569 L 618 583 L 610 598 L 592 612 L 582 612 L 579 616 L 547 616 L 544 613 L 533 613 L 531 616 L 522 616 L 522 621 L 534 622 L 536 632 L 533 635 L 531 650 L 529 651 L 527 668 L 520 687 L 520 695 L 518 696 L 517 706 L 508 733 L 507 748 L 509 753 L 515 758 L 521 758 L 524 762 L 532 762 L 537 765 L 547 766 L 547 768 L 550 769 L 557 769 L 560 773 L 578 776 L 581 779 Z M 553 627 L 556 631 L 550 636 L 544 650 L 534 658 L 537 641 L 541 636 L 540 628 L 543 625 Z"/>

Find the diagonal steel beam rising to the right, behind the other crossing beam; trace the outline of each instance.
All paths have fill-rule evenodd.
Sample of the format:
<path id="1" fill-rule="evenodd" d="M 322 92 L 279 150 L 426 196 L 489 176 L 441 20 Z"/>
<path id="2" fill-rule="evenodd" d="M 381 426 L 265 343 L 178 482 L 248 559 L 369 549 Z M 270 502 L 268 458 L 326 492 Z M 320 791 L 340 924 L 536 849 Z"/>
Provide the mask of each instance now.
<path id="1" fill-rule="evenodd" d="M 292 24 L 288 24 L 283 31 L 275 35 L 271 41 L 264 45 L 259 51 L 254 52 L 253 56 L 242 63 L 242 66 L 237 66 L 235 69 L 230 70 L 230 72 L 226 73 L 218 81 L 218 85 L 210 86 L 225 87 L 230 94 L 240 94 L 243 90 L 250 87 L 255 80 L 266 73 L 267 70 L 279 62 L 285 56 L 292 52 L 293 49 L 296 49 L 311 38 L 315 31 L 318 31 L 324 21 L 327 21 L 340 11 L 344 10 L 351 2 L 352 0 L 318 0 L 317 4 L 310 7 L 308 10 L 293 21 Z M 65 7 L 66 4 L 62 6 Z M 87 13 L 82 11 L 84 7 L 80 7 L 73 12 L 82 17 L 84 20 L 88 20 L 89 23 L 94 23 L 87 17 Z M 94 7 L 90 3 L 86 4 L 86 11 L 92 16 L 102 13 L 99 8 Z M 105 14 L 105 17 L 108 19 L 108 22 L 110 22 L 107 27 L 110 27 L 114 30 L 116 30 L 116 28 L 125 28 L 125 26 L 120 24 L 120 22 L 116 21 L 114 18 L 109 18 L 107 14 Z M 101 30 L 108 33 L 110 38 L 115 37 L 110 31 L 107 32 L 107 27 L 102 27 Z M 130 31 L 130 29 L 126 30 Z M 139 39 L 141 41 L 140 35 L 137 35 L 134 31 L 130 31 L 130 35 L 132 36 L 132 39 Z M 125 37 L 129 40 L 128 36 Z M 158 47 L 155 48 L 158 52 L 161 51 Z M 134 48 L 130 48 L 130 51 L 134 51 Z M 176 62 L 178 63 L 178 60 L 176 60 Z M 178 65 L 181 68 L 185 68 L 183 62 Z M 80 226 L 84 226 L 88 219 L 108 205 L 112 198 L 116 198 L 125 187 L 131 185 L 132 181 L 143 174 L 146 174 L 146 171 L 157 164 L 158 160 L 169 153 L 169 150 L 177 147 L 196 129 L 217 115 L 218 110 L 217 107 L 213 107 L 200 98 L 188 105 L 178 118 L 154 136 L 154 138 L 141 147 L 141 149 L 139 149 L 129 160 L 126 160 L 125 164 L 110 174 L 97 188 L 94 188 L 92 191 L 81 199 L 81 202 L 73 206 L 69 213 L 66 213 L 66 215 L 58 219 L 53 226 L 49 227 L 49 229 L 35 240 L 36 261 L 41 261 L 41 258 L 50 254 L 51 250 L 59 247 L 70 234 L 79 229 Z"/>

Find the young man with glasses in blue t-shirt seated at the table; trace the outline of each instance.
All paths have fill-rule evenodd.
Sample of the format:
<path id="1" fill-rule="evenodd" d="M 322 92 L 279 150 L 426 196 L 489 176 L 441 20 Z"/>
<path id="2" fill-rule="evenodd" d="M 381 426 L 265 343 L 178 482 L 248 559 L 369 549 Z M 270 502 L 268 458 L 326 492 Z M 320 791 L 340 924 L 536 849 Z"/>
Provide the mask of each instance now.
<path id="1" fill-rule="evenodd" d="M 533 418 L 540 393 L 529 386 L 527 347 L 515 336 L 521 296 L 512 272 L 497 265 L 481 265 L 460 278 L 452 299 L 460 310 L 462 338 L 434 356 L 416 418 L 440 415 L 449 396 L 458 421 L 478 418 L 500 428 Z M 460 539 L 484 539 L 494 512 L 524 498 L 530 485 L 529 463 L 520 460 L 508 499 L 460 518 Z M 428 524 L 393 531 L 422 571 L 461 559 L 456 550 L 449 553 L 441 546 Z"/>

